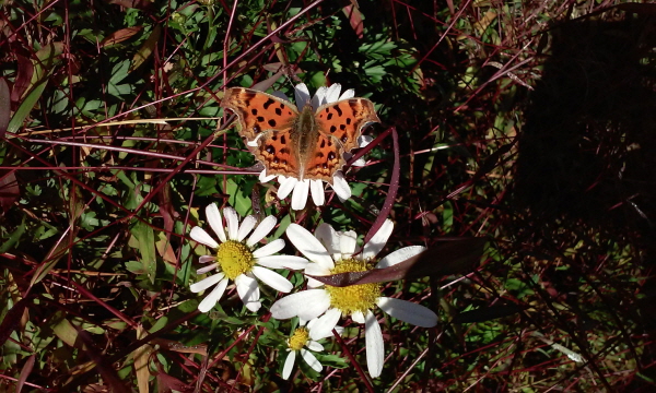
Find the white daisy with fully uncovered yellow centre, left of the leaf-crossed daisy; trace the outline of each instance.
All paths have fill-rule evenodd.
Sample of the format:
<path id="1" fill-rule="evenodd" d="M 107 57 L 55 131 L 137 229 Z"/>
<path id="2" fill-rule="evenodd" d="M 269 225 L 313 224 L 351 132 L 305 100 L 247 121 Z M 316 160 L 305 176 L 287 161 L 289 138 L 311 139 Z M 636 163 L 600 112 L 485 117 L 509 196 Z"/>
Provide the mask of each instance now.
<path id="1" fill-rule="evenodd" d="M 206 215 L 220 242 L 216 242 L 200 227 L 194 227 L 189 233 L 191 239 L 215 251 L 214 255 L 200 257 L 200 263 L 213 263 L 199 269 L 197 273 L 204 274 L 213 270 L 216 273 L 189 287 L 192 293 L 199 293 L 215 285 L 214 289 L 198 305 L 200 311 L 208 312 L 214 307 L 223 296 L 231 279 L 237 287 L 239 298 L 244 301 L 246 308 L 253 312 L 261 307 L 259 301 L 260 291 L 256 278 L 282 293 L 286 294 L 292 290 L 292 283 L 271 271 L 271 269 L 298 270 L 307 265 L 307 260 L 293 255 L 273 255 L 284 248 L 284 240 L 282 239 L 270 241 L 266 246 L 257 248 L 257 243 L 269 235 L 276 226 L 278 222 L 276 217 L 268 216 L 256 227 L 257 218 L 249 215 L 239 225 L 237 212 L 232 207 L 225 207 L 223 209 L 224 226 L 219 207 L 214 203 L 208 205 Z M 250 237 L 246 239 L 248 234 L 250 234 Z"/>

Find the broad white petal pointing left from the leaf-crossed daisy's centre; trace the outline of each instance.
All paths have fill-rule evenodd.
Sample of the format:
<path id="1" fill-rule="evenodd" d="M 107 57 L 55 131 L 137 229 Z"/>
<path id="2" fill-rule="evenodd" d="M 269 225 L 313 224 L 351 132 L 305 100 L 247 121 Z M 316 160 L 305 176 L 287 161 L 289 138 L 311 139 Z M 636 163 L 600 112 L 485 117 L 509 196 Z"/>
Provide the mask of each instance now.
<path id="1" fill-rule="evenodd" d="M 307 289 L 276 301 L 270 311 L 279 320 L 300 317 L 309 321 L 326 312 L 328 307 L 330 296 L 325 289 Z"/>

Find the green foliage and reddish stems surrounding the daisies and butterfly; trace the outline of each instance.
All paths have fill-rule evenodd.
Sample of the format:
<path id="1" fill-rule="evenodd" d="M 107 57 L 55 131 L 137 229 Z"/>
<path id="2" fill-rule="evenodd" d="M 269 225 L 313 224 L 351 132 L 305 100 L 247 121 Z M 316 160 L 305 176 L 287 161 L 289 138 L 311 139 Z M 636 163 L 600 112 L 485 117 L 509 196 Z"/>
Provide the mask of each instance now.
<path id="1" fill-rule="evenodd" d="M 0 335 L 8 381 L 30 383 L 23 391 L 140 392 L 199 381 L 203 391 L 244 392 L 654 384 L 653 284 L 643 264 L 653 259 L 654 204 L 641 186 L 653 182 L 645 175 L 653 165 L 639 154 L 652 145 L 644 135 L 654 124 L 655 62 L 648 34 L 632 29 L 645 28 L 651 11 L 604 11 L 595 1 L 235 4 L 17 0 L 3 8 Z M 581 34 L 559 31 L 577 17 Z M 588 58 L 550 63 L 564 49 L 549 43 L 563 36 L 594 36 L 607 49 L 593 56 L 575 41 L 564 47 Z M 633 44 L 637 55 L 612 62 Z M 612 83 L 596 85 L 618 69 Z M 560 85 L 566 75 L 554 70 L 583 70 L 587 84 Z M 353 198 L 342 203 L 328 192 L 326 206 L 295 212 L 276 198 L 276 181 L 258 181 L 236 130 L 222 130 L 224 87 L 261 83 L 293 97 L 297 82 L 311 92 L 354 88 L 383 120 L 366 132 L 398 133 L 396 227 L 383 254 L 433 248 L 441 237 L 490 240 L 465 277 L 385 284 L 387 296 L 429 306 L 440 323 L 425 330 L 386 318 L 385 369 L 371 382 L 363 326 L 349 322 L 343 343 L 321 341 L 323 373 L 298 358 L 300 372 L 283 381 L 286 335 L 298 322 L 270 318 L 277 291 L 262 287 L 262 309 L 250 312 L 230 287 L 199 313 L 202 298 L 189 290 L 201 279 L 199 257 L 214 252 L 189 238 L 192 227 L 208 228 L 210 203 L 242 216 L 276 215 L 267 241 L 284 239 L 291 223 L 365 235 L 380 214 L 395 165 L 391 138 L 345 172 Z M 617 85 L 634 90 L 607 92 Z M 558 99 L 540 100 L 540 91 Z M 562 116 L 573 107 L 579 117 Z M 535 131 L 550 120 L 548 132 Z M 569 124 L 586 132 L 562 131 Z M 536 140 L 544 144 L 529 151 Z M 573 152 L 584 154 L 575 160 Z M 522 159 L 549 170 L 523 177 Z M 590 163 L 597 171 L 586 172 Z M 289 241 L 284 251 L 294 252 Z M 301 273 L 283 274 L 305 284 Z M 584 356 L 585 366 L 558 345 Z"/>

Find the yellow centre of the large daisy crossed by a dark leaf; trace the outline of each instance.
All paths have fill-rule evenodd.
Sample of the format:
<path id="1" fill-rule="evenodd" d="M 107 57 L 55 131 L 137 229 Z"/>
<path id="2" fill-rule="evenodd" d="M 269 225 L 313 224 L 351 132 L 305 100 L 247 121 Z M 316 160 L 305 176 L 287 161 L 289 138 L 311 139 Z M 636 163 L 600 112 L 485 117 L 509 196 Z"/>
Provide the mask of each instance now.
<path id="1" fill-rule="evenodd" d="M 335 263 L 331 274 L 348 272 L 366 272 L 367 262 L 356 259 L 344 259 Z M 326 290 L 330 295 L 330 306 L 351 315 L 355 311 L 366 312 L 376 305 L 376 299 L 380 297 L 380 284 L 359 284 L 347 287 L 335 287 L 326 285 Z"/>

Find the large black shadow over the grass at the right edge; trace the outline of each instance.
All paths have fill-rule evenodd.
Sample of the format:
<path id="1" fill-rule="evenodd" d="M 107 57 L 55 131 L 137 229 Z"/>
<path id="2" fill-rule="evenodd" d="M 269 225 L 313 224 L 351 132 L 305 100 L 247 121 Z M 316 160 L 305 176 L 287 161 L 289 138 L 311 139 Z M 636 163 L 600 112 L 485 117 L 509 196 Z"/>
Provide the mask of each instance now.
<path id="1" fill-rule="evenodd" d="M 616 12 L 550 32 L 519 141 L 516 205 L 654 235 L 656 19 Z"/>

